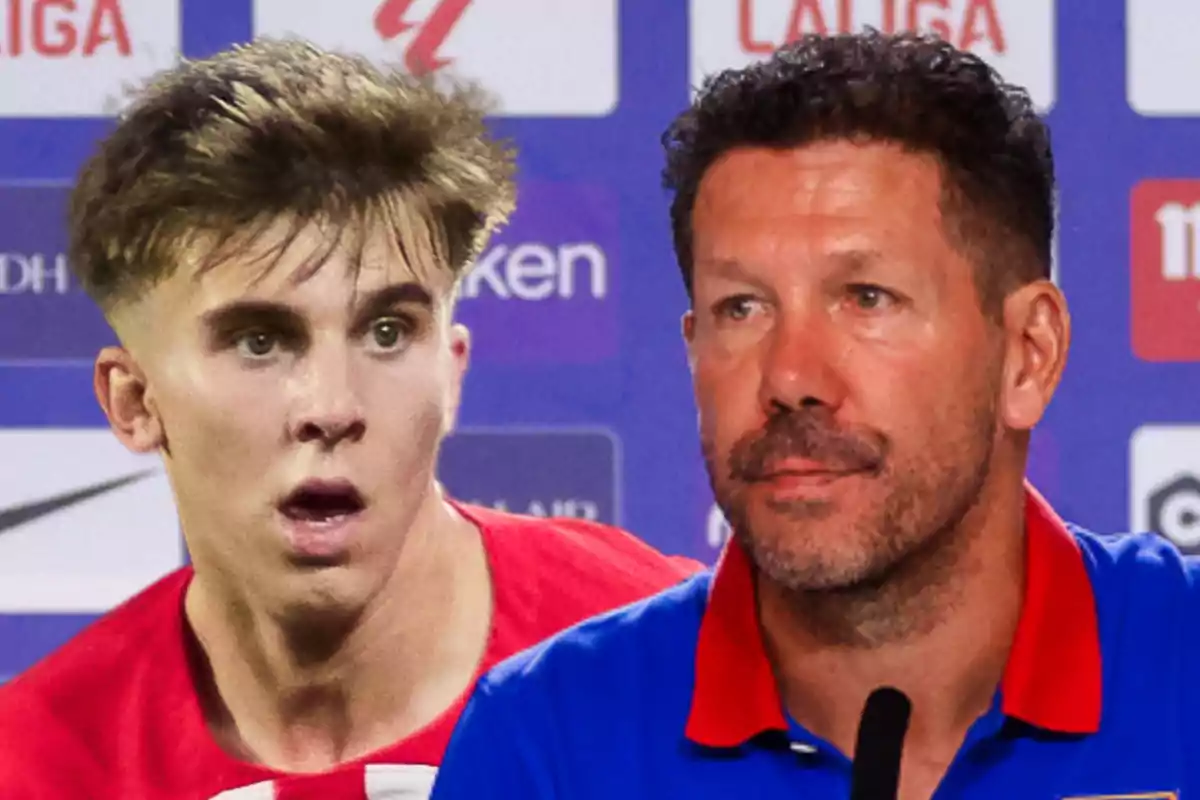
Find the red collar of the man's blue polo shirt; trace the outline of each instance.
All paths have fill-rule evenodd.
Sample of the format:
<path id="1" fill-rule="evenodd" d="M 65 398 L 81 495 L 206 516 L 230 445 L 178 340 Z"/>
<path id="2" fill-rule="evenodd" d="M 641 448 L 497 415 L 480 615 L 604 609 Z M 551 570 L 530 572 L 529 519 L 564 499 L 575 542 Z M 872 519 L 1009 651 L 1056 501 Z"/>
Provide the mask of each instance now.
<path id="1" fill-rule="evenodd" d="M 1100 643 L 1082 553 L 1031 486 L 1026 531 L 1025 600 L 1001 682 L 1002 710 L 1046 730 L 1094 733 Z M 764 730 L 787 730 L 754 595 L 750 560 L 731 543 L 718 563 L 696 646 L 686 735 L 697 744 L 733 747 Z"/>

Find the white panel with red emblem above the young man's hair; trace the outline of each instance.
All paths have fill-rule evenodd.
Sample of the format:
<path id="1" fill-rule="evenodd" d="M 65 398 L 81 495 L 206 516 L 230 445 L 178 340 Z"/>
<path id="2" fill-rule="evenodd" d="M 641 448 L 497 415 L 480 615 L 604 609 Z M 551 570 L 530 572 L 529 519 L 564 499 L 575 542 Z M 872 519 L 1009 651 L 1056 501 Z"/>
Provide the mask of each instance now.
<path id="1" fill-rule="evenodd" d="M 617 106 L 617 0 L 254 0 L 254 32 L 418 74 L 451 70 L 494 92 L 502 116 L 605 116 Z"/>

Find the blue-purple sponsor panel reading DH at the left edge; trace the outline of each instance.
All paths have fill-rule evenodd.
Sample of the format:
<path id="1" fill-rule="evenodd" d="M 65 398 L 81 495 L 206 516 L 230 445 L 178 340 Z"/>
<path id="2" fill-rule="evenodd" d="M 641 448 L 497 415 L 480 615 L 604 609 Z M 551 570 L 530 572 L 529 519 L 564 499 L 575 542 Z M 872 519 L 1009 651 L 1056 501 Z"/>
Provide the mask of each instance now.
<path id="1" fill-rule="evenodd" d="M 67 269 L 68 188 L 0 186 L 0 363 L 90 361 L 115 343 Z"/>

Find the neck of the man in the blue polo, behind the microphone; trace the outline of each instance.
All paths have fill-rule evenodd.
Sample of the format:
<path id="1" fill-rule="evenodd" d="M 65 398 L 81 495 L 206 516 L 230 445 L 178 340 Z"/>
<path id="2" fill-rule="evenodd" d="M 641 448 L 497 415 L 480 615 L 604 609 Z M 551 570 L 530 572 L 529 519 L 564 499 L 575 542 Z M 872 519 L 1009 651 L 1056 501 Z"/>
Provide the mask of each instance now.
<path id="1" fill-rule="evenodd" d="M 894 686 L 913 704 L 906 763 L 947 766 L 1003 678 L 1024 509 L 1021 485 L 985 488 L 955 529 L 862 591 L 797 596 L 760 576 L 763 638 L 792 716 L 850 754 L 866 697 Z"/>

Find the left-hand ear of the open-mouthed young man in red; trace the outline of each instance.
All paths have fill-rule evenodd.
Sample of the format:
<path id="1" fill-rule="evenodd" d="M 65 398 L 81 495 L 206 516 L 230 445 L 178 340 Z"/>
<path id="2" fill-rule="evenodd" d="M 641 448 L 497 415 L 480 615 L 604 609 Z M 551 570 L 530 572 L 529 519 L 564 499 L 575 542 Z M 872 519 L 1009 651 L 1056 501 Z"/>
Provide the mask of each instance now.
<path id="1" fill-rule="evenodd" d="M 133 452 L 155 452 L 163 445 L 162 420 L 145 374 L 128 350 L 107 347 L 96 356 L 92 375 L 96 399 L 121 444 Z"/>

